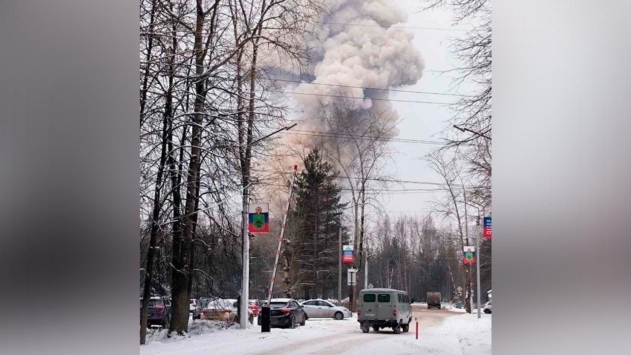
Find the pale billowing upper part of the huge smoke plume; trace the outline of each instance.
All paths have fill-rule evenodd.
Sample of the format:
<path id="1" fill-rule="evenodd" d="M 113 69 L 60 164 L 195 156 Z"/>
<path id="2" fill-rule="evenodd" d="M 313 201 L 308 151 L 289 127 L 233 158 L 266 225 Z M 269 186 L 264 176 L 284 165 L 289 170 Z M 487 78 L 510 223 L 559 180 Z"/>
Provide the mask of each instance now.
<path id="1" fill-rule="evenodd" d="M 307 43 L 313 49 L 312 81 L 292 90 L 302 94 L 294 97 L 302 106 L 303 126 L 321 128 L 313 118 L 321 102 L 352 100 L 339 96 L 360 98 L 364 109 L 385 111 L 384 117 L 396 119 L 392 105 L 384 100 L 387 91 L 364 88 L 396 88 L 421 78 L 425 65 L 412 45 L 413 34 L 391 27 L 404 23 L 406 13 L 393 0 L 342 0 L 330 8 L 331 16 L 322 19 L 319 39 Z"/>

